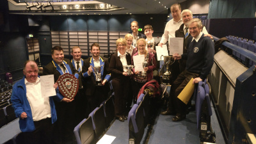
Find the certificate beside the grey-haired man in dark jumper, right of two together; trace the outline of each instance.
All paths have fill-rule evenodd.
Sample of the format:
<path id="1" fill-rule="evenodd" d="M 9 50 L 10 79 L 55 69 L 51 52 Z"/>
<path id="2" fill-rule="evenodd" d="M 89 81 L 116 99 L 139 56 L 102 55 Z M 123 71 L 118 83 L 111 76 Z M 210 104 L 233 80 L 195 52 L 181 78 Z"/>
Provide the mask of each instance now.
<path id="1" fill-rule="evenodd" d="M 183 42 L 184 38 L 169 38 L 170 45 L 169 51 L 170 55 L 178 53 L 179 55 L 183 54 Z"/>

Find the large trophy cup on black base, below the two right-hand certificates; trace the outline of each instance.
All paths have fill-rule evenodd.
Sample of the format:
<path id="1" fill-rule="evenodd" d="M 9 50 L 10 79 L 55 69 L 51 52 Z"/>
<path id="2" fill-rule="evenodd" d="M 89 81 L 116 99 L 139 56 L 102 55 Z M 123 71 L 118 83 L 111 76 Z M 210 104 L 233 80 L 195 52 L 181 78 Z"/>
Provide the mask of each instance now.
<path id="1" fill-rule="evenodd" d="M 162 84 L 170 85 L 171 72 L 169 71 L 170 63 L 173 63 L 173 56 L 164 56 L 164 65 L 166 66 L 166 72 L 162 77 Z"/>

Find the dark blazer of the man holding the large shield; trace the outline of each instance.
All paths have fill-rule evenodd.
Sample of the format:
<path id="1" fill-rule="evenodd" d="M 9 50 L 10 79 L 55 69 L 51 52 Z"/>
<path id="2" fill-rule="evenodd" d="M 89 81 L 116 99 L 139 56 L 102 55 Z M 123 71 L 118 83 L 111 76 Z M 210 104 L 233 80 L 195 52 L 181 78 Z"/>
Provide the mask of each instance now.
<path id="1" fill-rule="evenodd" d="M 53 61 L 53 60 L 52 60 Z M 54 83 L 56 83 L 56 81 L 58 80 L 58 78 L 61 76 L 60 72 L 56 69 L 56 67 L 54 67 L 54 63 L 52 63 L 52 61 L 50 63 L 48 63 L 44 69 L 43 69 L 43 76 L 45 75 L 49 75 L 49 74 L 54 74 Z M 68 60 L 67 58 L 64 58 L 64 61 L 67 62 L 68 66 L 70 67 L 72 74 L 74 75 L 75 73 L 78 73 L 76 68 L 73 67 L 72 63 L 70 60 Z"/>

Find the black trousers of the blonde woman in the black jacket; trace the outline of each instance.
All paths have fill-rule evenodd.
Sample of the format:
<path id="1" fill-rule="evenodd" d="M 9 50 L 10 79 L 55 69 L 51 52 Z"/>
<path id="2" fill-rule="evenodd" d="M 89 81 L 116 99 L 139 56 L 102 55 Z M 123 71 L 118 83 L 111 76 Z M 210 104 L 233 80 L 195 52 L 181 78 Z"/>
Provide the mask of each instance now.
<path id="1" fill-rule="evenodd" d="M 125 108 L 129 95 L 129 77 L 122 77 L 122 79 L 113 79 L 112 85 L 115 92 L 115 115 L 125 115 Z"/>

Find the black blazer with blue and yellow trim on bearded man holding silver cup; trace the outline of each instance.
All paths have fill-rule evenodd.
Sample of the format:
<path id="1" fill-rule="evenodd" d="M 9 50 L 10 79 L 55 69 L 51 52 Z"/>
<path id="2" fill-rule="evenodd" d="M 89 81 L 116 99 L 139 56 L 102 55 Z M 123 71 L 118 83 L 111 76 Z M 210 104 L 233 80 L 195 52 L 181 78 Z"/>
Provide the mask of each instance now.
<path id="1" fill-rule="evenodd" d="M 87 73 L 88 68 L 90 67 L 90 65 L 92 63 L 91 59 L 92 59 L 92 57 L 91 58 L 87 58 L 86 60 L 84 60 L 83 70 L 86 73 Z M 102 72 L 103 72 L 102 81 L 104 79 L 107 79 L 109 81 L 110 80 L 110 75 L 109 75 L 109 72 L 108 72 L 108 67 L 109 67 L 108 58 L 100 57 L 100 59 L 101 59 L 100 60 L 101 63 L 103 63 L 103 65 L 104 65 L 104 69 L 102 70 Z M 86 76 L 88 76 L 88 74 Z M 95 87 L 96 87 L 95 86 L 94 74 L 92 73 L 88 77 L 83 77 L 83 81 L 84 81 L 84 88 L 85 88 L 86 95 L 93 95 L 93 93 L 95 91 Z M 108 90 L 109 90 L 108 83 L 105 83 L 105 85 L 102 86 L 102 90 L 104 90 L 104 92 L 108 92 Z"/>

